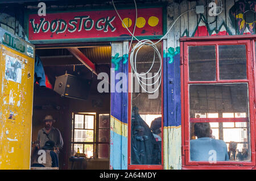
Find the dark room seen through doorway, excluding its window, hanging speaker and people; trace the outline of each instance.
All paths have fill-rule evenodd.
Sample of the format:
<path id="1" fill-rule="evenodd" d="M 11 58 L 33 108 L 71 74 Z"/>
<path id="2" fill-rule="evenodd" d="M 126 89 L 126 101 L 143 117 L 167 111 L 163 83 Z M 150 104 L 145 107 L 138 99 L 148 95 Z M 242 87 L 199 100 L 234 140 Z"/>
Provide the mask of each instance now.
<path id="1" fill-rule="evenodd" d="M 79 48 L 96 65 L 97 73 L 110 73 L 111 47 Z M 71 140 L 72 140 L 72 112 L 96 112 L 96 134 L 98 114 L 110 113 L 110 93 L 99 93 L 97 84 L 101 80 L 93 74 L 81 61 L 65 48 L 37 49 L 36 54 L 42 60 L 44 72 L 48 77 L 47 87 L 34 86 L 34 109 L 32 117 L 32 141 L 36 141 L 39 129 L 44 127 L 43 119 L 52 115 L 56 120 L 53 127 L 62 134 L 64 145 L 59 155 L 59 169 L 71 169 Z M 60 96 L 53 91 L 56 77 L 65 73 L 79 78 L 89 79 L 92 82 L 88 100 L 80 100 Z M 52 88 L 51 88 L 52 87 Z M 97 139 L 95 139 L 97 141 Z M 33 150 L 32 150 L 33 151 Z M 74 165 L 76 168 L 76 165 Z M 83 169 L 109 169 L 109 159 L 98 159 L 97 148 L 93 159 L 87 159 Z M 80 169 L 77 167 L 77 169 Z"/>

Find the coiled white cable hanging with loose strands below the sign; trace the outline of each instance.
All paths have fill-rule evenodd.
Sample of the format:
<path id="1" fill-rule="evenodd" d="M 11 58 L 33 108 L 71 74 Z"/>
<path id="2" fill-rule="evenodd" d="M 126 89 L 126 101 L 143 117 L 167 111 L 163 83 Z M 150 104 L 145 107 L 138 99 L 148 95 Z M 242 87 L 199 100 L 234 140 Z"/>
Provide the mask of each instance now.
<path id="1" fill-rule="evenodd" d="M 181 15 L 179 15 L 176 20 L 174 21 L 174 23 L 172 23 L 172 26 L 169 28 L 169 30 L 166 32 L 166 34 L 164 36 L 162 36 L 156 43 L 152 42 L 151 40 L 147 40 L 147 39 L 144 39 L 144 40 L 138 40 L 137 37 L 134 36 L 134 32 L 135 32 L 135 27 L 136 27 L 136 24 L 137 24 L 137 4 L 134 0 L 134 4 L 135 4 L 135 12 L 136 12 L 136 19 L 135 19 L 135 24 L 134 24 L 134 30 L 133 30 L 133 33 L 131 33 L 131 31 L 129 30 L 129 28 L 127 28 L 126 24 L 123 22 L 121 16 L 119 15 L 115 5 L 114 5 L 114 1 L 112 0 L 112 3 L 113 3 L 113 6 L 114 6 L 114 9 L 115 9 L 115 12 L 117 12 L 117 15 L 119 17 L 119 19 L 121 20 L 122 24 L 126 27 L 126 30 L 131 34 L 131 43 L 130 43 L 130 46 L 129 46 L 129 54 L 130 54 L 130 65 L 131 65 L 131 68 L 133 69 L 134 71 L 134 74 L 135 76 L 137 77 L 138 79 L 138 82 L 139 82 L 139 85 L 142 87 L 142 89 L 144 91 L 146 91 L 147 93 L 149 94 L 152 94 L 156 91 L 158 91 L 160 85 L 161 85 L 161 81 L 158 85 L 158 87 L 156 87 L 156 89 L 154 91 L 147 91 L 144 89 L 144 87 L 142 86 L 145 85 L 145 86 L 152 86 L 152 85 L 155 85 L 156 83 L 159 82 L 159 79 L 161 78 L 162 76 L 162 56 L 161 56 L 161 53 L 159 52 L 158 48 L 156 47 L 156 44 L 158 44 L 160 41 L 162 41 L 164 39 L 164 37 L 171 31 L 172 27 L 174 27 L 174 24 L 176 23 L 176 21 L 181 17 L 183 16 L 185 13 L 189 12 L 189 11 L 192 11 L 192 10 L 195 10 L 195 9 L 191 9 L 191 10 L 188 10 L 188 11 L 185 11 L 183 12 Z M 130 48 L 131 48 L 131 44 L 133 42 L 133 39 L 137 40 L 138 43 L 133 47 L 133 49 L 131 50 L 130 52 Z M 144 45 L 148 45 L 150 46 L 152 49 L 154 49 L 154 58 L 153 58 L 153 62 L 152 62 L 152 65 L 150 67 L 150 69 L 148 69 L 148 71 L 146 73 L 141 73 L 139 74 L 138 71 L 137 71 L 137 54 L 139 52 L 139 50 L 144 46 Z M 135 53 L 135 54 L 134 54 Z M 152 69 L 152 67 L 154 66 L 155 64 L 155 55 L 158 56 L 159 60 L 160 60 L 160 66 L 159 66 L 159 69 L 158 69 L 158 72 L 152 76 L 152 77 L 148 77 L 148 73 L 150 73 L 150 70 Z M 146 75 L 146 76 L 145 76 Z M 156 79 L 156 81 L 154 83 L 144 83 L 144 81 L 147 81 L 147 79 L 152 79 L 154 77 L 156 77 L 156 75 L 159 75 L 158 76 L 158 79 Z M 141 78 L 141 79 L 140 79 Z M 144 80 L 144 81 L 143 81 Z"/>

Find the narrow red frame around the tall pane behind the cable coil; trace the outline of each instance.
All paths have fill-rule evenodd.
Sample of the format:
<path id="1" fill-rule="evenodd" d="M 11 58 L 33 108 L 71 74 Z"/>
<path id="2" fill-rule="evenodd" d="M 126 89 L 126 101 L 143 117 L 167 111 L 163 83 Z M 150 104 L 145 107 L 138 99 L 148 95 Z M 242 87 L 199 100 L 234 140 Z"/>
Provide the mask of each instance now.
<path id="1" fill-rule="evenodd" d="M 129 44 L 130 45 L 130 44 Z M 127 169 L 128 170 L 163 170 L 163 109 L 164 109 L 164 104 L 163 104 L 163 41 L 162 41 L 162 51 L 161 51 L 161 57 L 162 57 L 162 74 L 161 74 L 161 83 L 162 83 L 162 93 L 161 93 L 161 112 L 162 112 L 162 165 L 131 165 L 131 97 L 132 97 L 132 90 L 133 90 L 133 82 L 131 77 L 132 69 L 131 69 L 131 64 L 129 62 L 129 78 L 128 78 L 128 160 L 127 160 Z M 129 53 L 129 60 L 130 60 L 130 53 Z"/>

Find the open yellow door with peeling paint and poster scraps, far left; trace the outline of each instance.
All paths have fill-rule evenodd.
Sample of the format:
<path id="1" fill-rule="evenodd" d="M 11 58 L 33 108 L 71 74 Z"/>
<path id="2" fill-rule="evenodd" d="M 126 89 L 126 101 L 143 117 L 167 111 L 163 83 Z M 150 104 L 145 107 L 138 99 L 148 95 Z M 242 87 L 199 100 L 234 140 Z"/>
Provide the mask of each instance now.
<path id="1" fill-rule="evenodd" d="M 30 169 L 34 59 L 0 48 L 0 169 Z"/>

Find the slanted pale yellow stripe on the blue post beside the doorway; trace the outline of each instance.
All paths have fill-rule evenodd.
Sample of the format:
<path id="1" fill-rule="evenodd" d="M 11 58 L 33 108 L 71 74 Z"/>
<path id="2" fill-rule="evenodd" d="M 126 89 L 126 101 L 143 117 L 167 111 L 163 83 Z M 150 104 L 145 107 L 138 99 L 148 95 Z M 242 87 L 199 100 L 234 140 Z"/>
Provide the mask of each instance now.
<path id="1" fill-rule="evenodd" d="M 128 135 L 127 123 L 123 123 L 114 116 L 110 117 L 110 130 L 124 137 Z"/>

